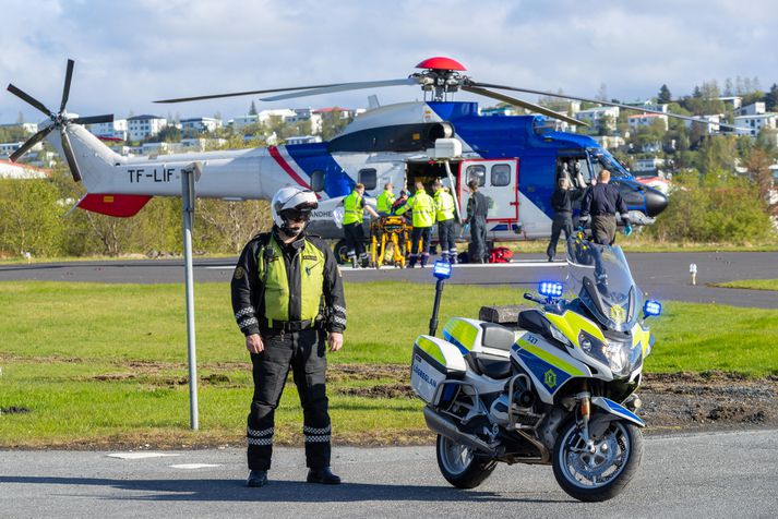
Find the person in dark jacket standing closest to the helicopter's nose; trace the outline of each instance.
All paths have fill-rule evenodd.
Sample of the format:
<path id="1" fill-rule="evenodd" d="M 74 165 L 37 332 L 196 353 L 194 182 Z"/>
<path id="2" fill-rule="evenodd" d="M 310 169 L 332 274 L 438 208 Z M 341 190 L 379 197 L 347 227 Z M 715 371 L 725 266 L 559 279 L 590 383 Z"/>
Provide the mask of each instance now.
<path id="1" fill-rule="evenodd" d="M 617 213 L 621 213 L 622 222 L 625 229 L 632 231 L 630 227 L 630 215 L 626 212 L 626 204 L 615 185 L 611 185 L 611 173 L 607 169 L 600 171 L 597 184 L 587 190 L 584 201 L 580 204 L 579 224 L 585 225 L 591 217 L 591 234 L 595 243 L 601 245 L 612 245 L 615 241 Z M 629 232 L 627 232 L 629 233 Z"/>

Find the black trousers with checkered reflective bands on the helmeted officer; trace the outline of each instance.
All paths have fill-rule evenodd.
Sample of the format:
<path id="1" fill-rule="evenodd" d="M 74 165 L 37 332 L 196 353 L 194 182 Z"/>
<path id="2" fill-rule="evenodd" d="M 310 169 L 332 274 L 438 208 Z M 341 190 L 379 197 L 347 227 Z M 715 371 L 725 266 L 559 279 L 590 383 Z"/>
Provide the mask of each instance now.
<path id="1" fill-rule="evenodd" d="M 264 351 L 251 354 L 254 396 L 247 429 L 249 470 L 271 468 L 274 413 L 289 369 L 302 405 L 307 466 L 311 469 L 330 467 L 326 333 L 321 329 L 286 333 L 262 329 L 260 334 Z"/>

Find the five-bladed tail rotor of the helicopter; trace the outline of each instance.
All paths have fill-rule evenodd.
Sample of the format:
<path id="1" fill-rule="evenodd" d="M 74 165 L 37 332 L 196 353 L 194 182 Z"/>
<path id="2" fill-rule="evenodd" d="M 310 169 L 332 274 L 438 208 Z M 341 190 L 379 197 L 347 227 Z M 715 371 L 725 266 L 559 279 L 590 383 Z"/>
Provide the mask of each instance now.
<path id="1" fill-rule="evenodd" d="M 59 129 L 59 134 L 62 141 L 62 149 L 64 150 L 64 157 L 65 160 L 68 161 L 68 167 L 70 168 L 70 172 L 73 176 L 73 180 L 76 182 L 81 181 L 81 171 L 79 170 L 79 164 L 75 161 L 75 156 L 73 155 L 73 149 L 70 145 L 70 137 L 68 136 L 68 124 L 98 124 L 101 122 L 113 122 L 113 116 L 112 114 L 107 114 L 107 116 L 92 116 L 92 117 L 76 117 L 76 118 L 69 118 L 68 112 L 65 111 L 65 105 L 68 104 L 68 98 L 70 97 L 70 83 L 71 80 L 73 79 L 73 65 L 74 61 L 73 60 L 68 60 L 68 69 L 64 74 L 64 87 L 62 88 L 62 101 L 60 102 L 59 106 L 59 112 L 53 113 L 51 110 L 46 108 L 46 105 L 31 96 L 29 94 L 25 93 L 21 88 L 17 88 L 13 84 L 8 85 L 8 92 L 11 94 L 15 95 L 16 97 L 21 98 L 28 105 L 32 105 L 33 107 L 37 108 L 39 111 L 45 113 L 50 122 L 39 130 L 35 135 L 29 137 L 27 141 L 22 144 L 22 146 L 19 147 L 14 153 L 11 154 L 11 160 L 16 161 L 20 157 L 22 157 L 25 153 L 29 150 L 33 146 L 38 144 L 40 141 L 43 141 L 46 135 L 51 133 L 52 131 Z"/>

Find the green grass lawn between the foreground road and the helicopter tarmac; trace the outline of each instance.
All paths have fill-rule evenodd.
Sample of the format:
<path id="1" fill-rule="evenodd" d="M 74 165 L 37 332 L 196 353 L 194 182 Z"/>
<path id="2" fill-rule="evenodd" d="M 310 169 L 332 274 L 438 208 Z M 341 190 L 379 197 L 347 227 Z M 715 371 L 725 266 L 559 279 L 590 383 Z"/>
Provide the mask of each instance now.
<path id="1" fill-rule="evenodd" d="M 405 366 L 414 338 L 427 331 L 434 283 L 350 283 L 346 291 L 346 346 L 330 355 L 337 374 L 330 384 L 335 435 L 412 442 L 426 430 L 419 400 L 358 389 L 407 383 Z M 0 283 L 0 447 L 242 443 L 251 377 L 229 288 L 195 289 L 196 433 L 188 431 L 183 298 L 179 285 Z M 519 301 L 522 291 L 513 288 L 447 286 L 441 327 L 453 315 L 476 316 L 483 304 Z M 778 311 L 668 303 L 651 326 L 657 343 L 648 371 L 778 374 Z M 395 369 L 360 376 L 385 366 Z M 294 384 L 276 417 L 276 439 L 299 443 Z"/>

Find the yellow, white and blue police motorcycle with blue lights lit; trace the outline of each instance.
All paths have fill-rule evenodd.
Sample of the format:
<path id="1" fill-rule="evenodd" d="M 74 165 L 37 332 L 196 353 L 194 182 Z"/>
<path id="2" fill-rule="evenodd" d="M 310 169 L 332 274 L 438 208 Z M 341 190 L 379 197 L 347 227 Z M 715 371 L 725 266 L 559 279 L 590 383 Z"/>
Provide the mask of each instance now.
<path id="1" fill-rule="evenodd" d="M 438 466 L 459 488 L 475 488 L 498 462 L 551 464 L 560 486 L 585 502 L 618 495 L 643 455 L 637 414 L 644 359 L 654 338 L 645 301 L 619 246 L 582 234 L 567 241 L 568 298 L 541 282 L 539 306 L 514 326 L 451 318 L 435 337 L 438 305 L 451 266 L 439 278 L 430 335 L 416 339 L 411 386 L 438 433 Z M 639 309 L 643 307 L 643 316 Z"/>

